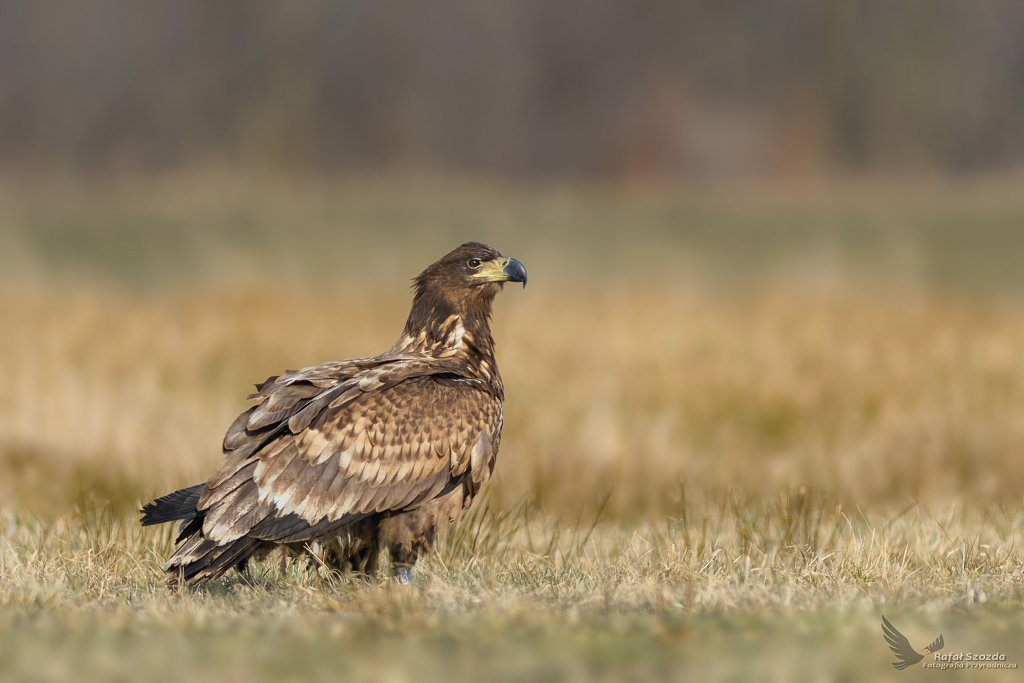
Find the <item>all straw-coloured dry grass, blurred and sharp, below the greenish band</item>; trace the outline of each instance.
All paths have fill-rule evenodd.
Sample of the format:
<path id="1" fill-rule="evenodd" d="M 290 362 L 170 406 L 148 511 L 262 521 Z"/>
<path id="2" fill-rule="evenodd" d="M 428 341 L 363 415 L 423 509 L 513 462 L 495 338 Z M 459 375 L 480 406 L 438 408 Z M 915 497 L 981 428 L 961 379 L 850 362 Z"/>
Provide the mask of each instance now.
<path id="1" fill-rule="evenodd" d="M 499 470 L 412 590 L 271 558 L 169 595 L 133 513 L 203 478 L 251 383 L 387 347 L 407 292 L 5 285 L 0 678 L 913 678 L 880 611 L 1024 657 L 1019 300 L 556 260 L 500 299 Z"/>

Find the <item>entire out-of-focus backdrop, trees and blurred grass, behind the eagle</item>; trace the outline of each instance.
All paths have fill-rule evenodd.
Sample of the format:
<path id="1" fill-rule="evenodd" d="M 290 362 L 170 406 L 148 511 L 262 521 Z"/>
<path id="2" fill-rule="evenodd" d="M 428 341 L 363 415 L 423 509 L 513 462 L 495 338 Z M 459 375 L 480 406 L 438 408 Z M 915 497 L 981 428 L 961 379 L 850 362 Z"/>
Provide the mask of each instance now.
<path id="1" fill-rule="evenodd" d="M 0 2 L 0 486 L 202 480 L 461 242 L 498 501 L 1019 501 L 1024 6 Z M 692 495 L 692 494 L 691 494 Z"/>

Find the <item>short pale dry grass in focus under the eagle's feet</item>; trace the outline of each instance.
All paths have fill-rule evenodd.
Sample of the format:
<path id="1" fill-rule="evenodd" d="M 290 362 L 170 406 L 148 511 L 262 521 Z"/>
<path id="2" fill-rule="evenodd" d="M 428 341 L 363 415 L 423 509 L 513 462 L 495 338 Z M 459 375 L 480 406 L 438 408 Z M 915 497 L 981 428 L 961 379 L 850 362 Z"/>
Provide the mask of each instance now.
<path id="1" fill-rule="evenodd" d="M 897 680 L 880 610 L 915 643 L 942 632 L 951 651 L 1011 661 L 1024 631 L 1020 514 L 850 518 L 797 494 L 591 532 L 482 510 L 413 589 L 273 558 L 182 595 L 160 582 L 168 533 L 88 507 L 52 524 L 7 514 L 0 666 L 31 680 Z"/>

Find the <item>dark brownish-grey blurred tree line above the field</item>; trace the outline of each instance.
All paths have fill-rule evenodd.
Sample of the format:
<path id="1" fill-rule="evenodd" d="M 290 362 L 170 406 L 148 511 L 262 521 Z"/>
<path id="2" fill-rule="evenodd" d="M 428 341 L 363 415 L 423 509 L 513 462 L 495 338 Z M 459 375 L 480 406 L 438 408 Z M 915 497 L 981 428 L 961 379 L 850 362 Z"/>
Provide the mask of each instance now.
<path id="1" fill-rule="evenodd" d="M 0 0 L 0 167 L 1024 160 L 1019 0 Z"/>

